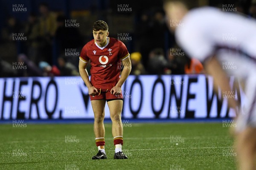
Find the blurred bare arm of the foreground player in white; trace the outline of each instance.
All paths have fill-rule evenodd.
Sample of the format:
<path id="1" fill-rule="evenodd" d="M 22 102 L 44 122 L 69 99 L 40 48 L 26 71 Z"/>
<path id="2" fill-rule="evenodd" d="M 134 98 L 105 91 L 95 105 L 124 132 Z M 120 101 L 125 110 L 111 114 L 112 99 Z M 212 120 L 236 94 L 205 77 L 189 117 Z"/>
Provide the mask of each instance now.
<path id="1" fill-rule="evenodd" d="M 221 91 L 231 91 L 227 75 L 222 70 L 216 57 L 212 57 L 209 61 L 205 62 L 204 66 L 207 74 L 210 74 L 213 77 L 215 91 L 218 91 L 218 86 L 221 88 Z M 234 98 L 228 98 L 228 105 L 236 111 L 236 114 L 238 114 L 238 103 Z"/>

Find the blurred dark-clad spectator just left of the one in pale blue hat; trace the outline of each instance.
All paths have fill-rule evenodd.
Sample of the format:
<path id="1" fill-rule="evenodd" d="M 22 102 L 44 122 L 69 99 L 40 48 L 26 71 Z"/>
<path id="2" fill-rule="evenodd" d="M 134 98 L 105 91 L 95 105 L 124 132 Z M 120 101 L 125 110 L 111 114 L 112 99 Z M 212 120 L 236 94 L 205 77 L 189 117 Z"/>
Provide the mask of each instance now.
<path id="1" fill-rule="evenodd" d="M 43 76 L 43 72 L 25 54 L 18 55 L 18 62 L 23 62 L 23 65 L 26 66 L 25 70 L 17 71 L 19 77 Z"/>

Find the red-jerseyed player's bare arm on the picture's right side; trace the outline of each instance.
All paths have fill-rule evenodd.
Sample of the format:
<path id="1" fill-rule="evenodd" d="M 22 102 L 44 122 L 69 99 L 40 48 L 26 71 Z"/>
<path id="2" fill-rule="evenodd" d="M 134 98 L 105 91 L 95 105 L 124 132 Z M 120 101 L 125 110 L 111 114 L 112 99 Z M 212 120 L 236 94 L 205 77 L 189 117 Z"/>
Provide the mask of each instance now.
<path id="1" fill-rule="evenodd" d="M 124 66 L 124 68 L 122 70 L 121 77 L 120 77 L 119 81 L 116 83 L 116 86 L 113 87 L 110 91 L 111 94 L 113 94 L 113 95 L 118 95 L 121 93 L 121 91 L 122 91 L 121 87 L 124 84 L 127 77 L 129 76 L 129 74 L 131 73 L 130 57 L 127 57 L 126 59 L 122 60 L 122 65 Z"/>

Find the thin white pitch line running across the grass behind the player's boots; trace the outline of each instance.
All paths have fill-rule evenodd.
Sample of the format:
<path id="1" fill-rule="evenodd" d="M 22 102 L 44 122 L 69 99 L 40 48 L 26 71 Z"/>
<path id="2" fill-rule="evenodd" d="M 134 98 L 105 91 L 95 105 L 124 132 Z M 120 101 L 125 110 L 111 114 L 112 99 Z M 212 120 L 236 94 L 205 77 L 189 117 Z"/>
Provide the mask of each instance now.
<path id="1" fill-rule="evenodd" d="M 134 150 L 174 150 L 174 149 L 217 149 L 217 148 L 232 148 L 233 146 L 224 146 L 224 147 L 173 147 L 173 148 L 154 148 L 154 149 L 123 149 L 125 151 L 134 151 Z M 106 150 L 114 151 L 114 150 Z M 81 151 L 60 151 L 60 152 L 25 152 L 25 153 L 79 153 L 79 152 L 95 152 L 95 150 L 81 150 Z M 9 152 L 2 152 L 1 154 L 13 154 Z"/>

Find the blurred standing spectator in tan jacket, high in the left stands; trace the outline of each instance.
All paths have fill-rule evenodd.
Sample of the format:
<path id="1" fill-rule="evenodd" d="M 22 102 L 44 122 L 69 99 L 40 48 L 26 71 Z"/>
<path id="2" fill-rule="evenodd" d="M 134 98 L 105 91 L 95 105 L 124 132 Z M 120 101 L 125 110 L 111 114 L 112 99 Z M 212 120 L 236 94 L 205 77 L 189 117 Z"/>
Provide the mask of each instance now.
<path id="1" fill-rule="evenodd" d="M 41 3 L 39 6 L 41 17 L 39 17 L 39 36 L 41 60 L 52 63 L 52 38 L 57 28 L 56 16 L 49 11 L 47 3 Z"/>

